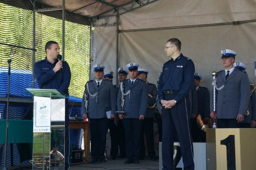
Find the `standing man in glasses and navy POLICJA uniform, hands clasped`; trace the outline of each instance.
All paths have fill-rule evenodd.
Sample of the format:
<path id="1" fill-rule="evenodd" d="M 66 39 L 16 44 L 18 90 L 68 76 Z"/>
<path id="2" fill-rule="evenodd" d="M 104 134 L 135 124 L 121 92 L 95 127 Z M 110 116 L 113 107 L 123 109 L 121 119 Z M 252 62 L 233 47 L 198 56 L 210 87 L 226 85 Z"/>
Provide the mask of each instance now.
<path id="1" fill-rule="evenodd" d="M 177 38 L 167 41 L 164 51 L 171 59 L 164 63 L 158 84 L 157 94 L 163 105 L 163 169 L 173 169 L 173 141 L 177 132 L 184 169 L 194 170 L 188 93 L 193 88 L 195 66 L 180 50 L 181 41 Z"/>

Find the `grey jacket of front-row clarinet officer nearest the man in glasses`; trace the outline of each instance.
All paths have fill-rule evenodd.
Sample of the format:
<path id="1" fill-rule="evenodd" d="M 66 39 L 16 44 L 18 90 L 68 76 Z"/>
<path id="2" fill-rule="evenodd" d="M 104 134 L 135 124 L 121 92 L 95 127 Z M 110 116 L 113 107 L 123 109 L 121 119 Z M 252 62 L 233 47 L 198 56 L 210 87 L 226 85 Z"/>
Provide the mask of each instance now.
<path id="1" fill-rule="evenodd" d="M 148 107 L 148 90 L 146 82 L 139 80 L 138 78 L 133 85 L 130 79 L 126 79 L 123 82 L 125 83 L 124 93 L 127 93 L 127 91 L 130 90 L 130 94 L 127 94 L 124 97 L 124 111 L 126 111 L 124 114 L 125 118 L 139 119 L 140 114 L 146 116 Z M 117 96 L 118 111 L 122 111 L 121 98 L 122 92 L 120 88 Z"/>

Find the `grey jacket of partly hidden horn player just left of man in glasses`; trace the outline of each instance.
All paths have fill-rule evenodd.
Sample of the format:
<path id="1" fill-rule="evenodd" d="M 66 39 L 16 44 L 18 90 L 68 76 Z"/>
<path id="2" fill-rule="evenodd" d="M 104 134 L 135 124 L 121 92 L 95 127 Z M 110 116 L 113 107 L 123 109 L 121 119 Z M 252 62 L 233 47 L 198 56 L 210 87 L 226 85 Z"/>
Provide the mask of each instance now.
<path id="1" fill-rule="evenodd" d="M 148 103 L 154 104 L 156 103 L 156 100 L 157 100 L 157 87 L 155 84 L 148 83 L 148 82 L 147 82 L 147 87 L 148 87 L 148 94 L 153 96 L 148 98 Z M 147 109 L 146 117 L 155 118 L 154 108 Z"/>

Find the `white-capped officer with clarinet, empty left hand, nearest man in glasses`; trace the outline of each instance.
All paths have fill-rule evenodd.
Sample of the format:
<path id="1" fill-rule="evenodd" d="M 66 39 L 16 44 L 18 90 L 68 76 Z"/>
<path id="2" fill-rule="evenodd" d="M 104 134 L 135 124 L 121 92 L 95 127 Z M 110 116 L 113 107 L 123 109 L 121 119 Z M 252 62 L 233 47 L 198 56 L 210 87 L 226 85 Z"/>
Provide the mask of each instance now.
<path id="1" fill-rule="evenodd" d="M 124 87 L 124 111 L 119 118 L 123 120 L 126 139 L 127 160 L 124 164 L 139 163 L 140 135 L 142 131 L 142 120 L 146 116 L 148 106 L 148 90 L 145 81 L 139 80 L 138 64 L 129 63 L 126 67 L 129 70 L 130 78 L 121 82 L 117 97 L 117 109 L 122 111 L 122 83 Z"/>

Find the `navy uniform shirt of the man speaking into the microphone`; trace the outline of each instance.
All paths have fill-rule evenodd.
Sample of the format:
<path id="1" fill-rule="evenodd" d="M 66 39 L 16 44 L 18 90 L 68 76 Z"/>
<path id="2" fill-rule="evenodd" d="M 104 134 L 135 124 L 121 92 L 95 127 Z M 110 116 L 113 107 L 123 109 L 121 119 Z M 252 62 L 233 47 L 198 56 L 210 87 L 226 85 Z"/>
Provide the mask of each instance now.
<path id="1" fill-rule="evenodd" d="M 34 74 L 35 79 L 39 84 L 40 89 L 56 89 L 69 95 L 69 84 L 71 79 L 71 72 L 67 62 L 62 61 L 62 67 L 56 73 L 53 71 L 58 60 L 53 64 L 47 59 L 35 62 Z"/>

